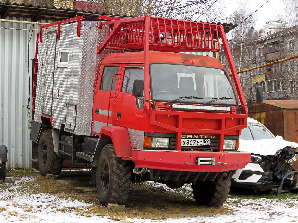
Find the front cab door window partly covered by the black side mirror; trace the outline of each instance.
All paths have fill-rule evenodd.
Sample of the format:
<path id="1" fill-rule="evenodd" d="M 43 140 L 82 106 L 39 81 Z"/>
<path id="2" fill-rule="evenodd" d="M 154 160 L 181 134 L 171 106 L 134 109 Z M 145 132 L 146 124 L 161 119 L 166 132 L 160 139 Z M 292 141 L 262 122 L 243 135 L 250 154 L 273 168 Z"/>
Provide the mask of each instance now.
<path id="1" fill-rule="evenodd" d="M 134 80 L 144 80 L 144 69 L 141 67 L 126 67 L 122 92 L 132 93 L 132 87 L 134 85 Z"/>

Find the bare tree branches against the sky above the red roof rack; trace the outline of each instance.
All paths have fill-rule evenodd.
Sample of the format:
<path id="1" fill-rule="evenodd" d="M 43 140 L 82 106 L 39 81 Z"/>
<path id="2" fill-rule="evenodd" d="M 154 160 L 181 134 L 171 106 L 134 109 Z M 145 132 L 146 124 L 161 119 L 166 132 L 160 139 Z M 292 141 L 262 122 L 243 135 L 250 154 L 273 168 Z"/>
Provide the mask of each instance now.
<path id="1" fill-rule="evenodd" d="M 224 17 L 222 0 L 105 0 L 106 12 L 133 16 L 153 15 L 191 21 L 218 21 Z"/>

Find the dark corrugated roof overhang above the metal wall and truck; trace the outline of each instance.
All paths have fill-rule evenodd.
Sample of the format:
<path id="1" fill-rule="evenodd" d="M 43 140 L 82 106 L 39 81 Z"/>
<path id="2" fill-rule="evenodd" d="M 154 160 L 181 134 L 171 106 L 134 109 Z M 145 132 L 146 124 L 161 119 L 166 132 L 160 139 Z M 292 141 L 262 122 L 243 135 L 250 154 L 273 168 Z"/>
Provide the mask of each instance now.
<path id="1" fill-rule="evenodd" d="M 5 19 L 7 16 L 9 17 L 21 17 L 21 18 L 31 18 L 32 21 L 36 22 L 38 20 L 52 20 L 52 21 L 61 21 L 69 18 L 74 18 L 77 16 L 85 15 L 86 20 L 99 20 L 99 15 L 106 15 L 112 17 L 119 18 L 133 18 L 134 16 L 130 15 L 114 15 L 100 12 L 92 12 L 85 10 L 78 11 L 73 9 L 64 9 L 64 8 L 56 8 L 56 7 L 48 7 L 48 6 L 34 6 L 32 4 L 17 4 L 17 3 L 0 3 L 0 18 Z M 202 21 L 201 21 L 202 22 Z M 212 23 L 216 25 L 222 24 L 224 26 L 225 33 L 231 31 L 238 25 L 233 25 L 232 23 Z"/>

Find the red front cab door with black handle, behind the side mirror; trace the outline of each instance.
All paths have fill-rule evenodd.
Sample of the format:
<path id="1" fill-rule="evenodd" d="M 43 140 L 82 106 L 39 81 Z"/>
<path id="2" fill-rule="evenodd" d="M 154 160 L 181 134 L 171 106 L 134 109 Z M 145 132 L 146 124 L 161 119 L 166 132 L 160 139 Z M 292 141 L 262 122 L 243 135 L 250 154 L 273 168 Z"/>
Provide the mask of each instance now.
<path id="1" fill-rule="evenodd" d="M 143 100 L 132 96 L 134 80 L 144 80 L 144 67 L 139 65 L 126 65 L 122 68 L 122 80 L 119 81 L 119 91 L 115 101 L 114 123 L 128 129 L 134 148 L 143 149 L 143 141 L 134 140 L 134 136 L 144 136 Z"/>

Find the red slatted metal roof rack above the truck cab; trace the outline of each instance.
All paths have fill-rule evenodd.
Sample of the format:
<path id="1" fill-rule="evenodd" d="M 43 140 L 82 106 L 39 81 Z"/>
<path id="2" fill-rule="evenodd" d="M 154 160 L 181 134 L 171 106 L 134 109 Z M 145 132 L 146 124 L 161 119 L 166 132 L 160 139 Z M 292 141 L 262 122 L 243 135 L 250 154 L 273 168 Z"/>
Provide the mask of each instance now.
<path id="1" fill-rule="evenodd" d="M 98 46 L 98 52 L 104 48 L 125 48 L 168 52 L 190 52 L 220 50 L 218 25 L 168 19 L 161 17 L 113 18 L 100 23 L 99 29 L 108 26 L 108 38 Z M 100 19 L 107 19 L 101 18 Z M 148 24 L 148 25 L 146 25 Z M 148 27 L 147 27 L 148 26 Z M 149 40 L 146 32 L 149 32 Z"/>

